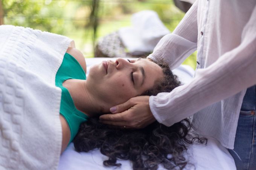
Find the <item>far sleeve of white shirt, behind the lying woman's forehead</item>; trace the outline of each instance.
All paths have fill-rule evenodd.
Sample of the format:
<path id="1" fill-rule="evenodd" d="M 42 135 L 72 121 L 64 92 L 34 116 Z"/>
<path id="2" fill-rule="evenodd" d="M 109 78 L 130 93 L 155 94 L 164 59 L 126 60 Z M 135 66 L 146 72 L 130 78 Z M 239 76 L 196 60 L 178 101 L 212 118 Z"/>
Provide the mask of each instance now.
<path id="1" fill-rule="evenodd" d="M 165 35 L 147 58 L 164 60 L 171 69 L 179 66 L 197 49 L 197 9 L 198 0 L 187 11 L 174 32 Z"/>

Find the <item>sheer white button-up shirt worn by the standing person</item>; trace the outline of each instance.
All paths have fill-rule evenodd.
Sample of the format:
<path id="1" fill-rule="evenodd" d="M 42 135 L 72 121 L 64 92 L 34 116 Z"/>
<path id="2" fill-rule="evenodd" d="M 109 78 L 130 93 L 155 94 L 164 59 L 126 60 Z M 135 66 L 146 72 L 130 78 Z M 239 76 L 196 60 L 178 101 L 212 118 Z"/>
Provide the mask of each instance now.
<path id="1" fill-rule="evenodd" d="M 149 106 L 166 126 L 196 113 L 193 124 L 200 134 L 233 149 L 242 99 L 256 84 L 256 1 L 197 0 L 148 58 L 174 69 L 196 49 L 193 80 L 150 96 Z"/>

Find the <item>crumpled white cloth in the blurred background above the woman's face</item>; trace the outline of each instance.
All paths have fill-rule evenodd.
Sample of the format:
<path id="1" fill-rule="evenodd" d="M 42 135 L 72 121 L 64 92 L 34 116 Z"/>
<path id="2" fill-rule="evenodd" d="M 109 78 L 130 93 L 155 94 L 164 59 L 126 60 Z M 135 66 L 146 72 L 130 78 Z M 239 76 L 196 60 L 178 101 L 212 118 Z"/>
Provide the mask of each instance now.
<path id="1" fill-rule="evenodd" d="M 121 28 L 119 36 L 130 53 L 151 52 L 157 42 L 170 31 L 154 11 L 133 14 L 132 27 Z"/>

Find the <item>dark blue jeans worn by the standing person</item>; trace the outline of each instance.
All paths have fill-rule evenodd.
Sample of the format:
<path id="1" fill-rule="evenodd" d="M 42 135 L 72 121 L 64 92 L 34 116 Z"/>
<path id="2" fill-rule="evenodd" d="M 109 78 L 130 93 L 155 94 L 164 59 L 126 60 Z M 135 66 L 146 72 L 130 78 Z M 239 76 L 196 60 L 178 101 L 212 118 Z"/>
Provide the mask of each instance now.
<path id="1" fill-rule="evenodd" d="M 236 129 L 234 149 L 229 149 L 237 170 L 256 170 L 256 85 L 246 90 Z"/>

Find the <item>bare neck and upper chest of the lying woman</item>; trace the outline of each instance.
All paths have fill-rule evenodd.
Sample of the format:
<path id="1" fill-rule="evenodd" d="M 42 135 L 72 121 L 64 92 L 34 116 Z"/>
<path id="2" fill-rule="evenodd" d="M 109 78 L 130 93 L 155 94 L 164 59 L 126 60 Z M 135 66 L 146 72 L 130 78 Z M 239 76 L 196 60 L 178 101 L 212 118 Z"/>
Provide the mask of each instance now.
<path id="1" fill-rule="evenodd" d="M 65 83 L 65 84 L 64 84 Z M 104 104 L 95 98 L 94 89 L 87 87 L 86 80 L 66 80 L 63 86 L 69 90 L 75 107 L 88 117 L 99 116 L 105 112 Z"/>

